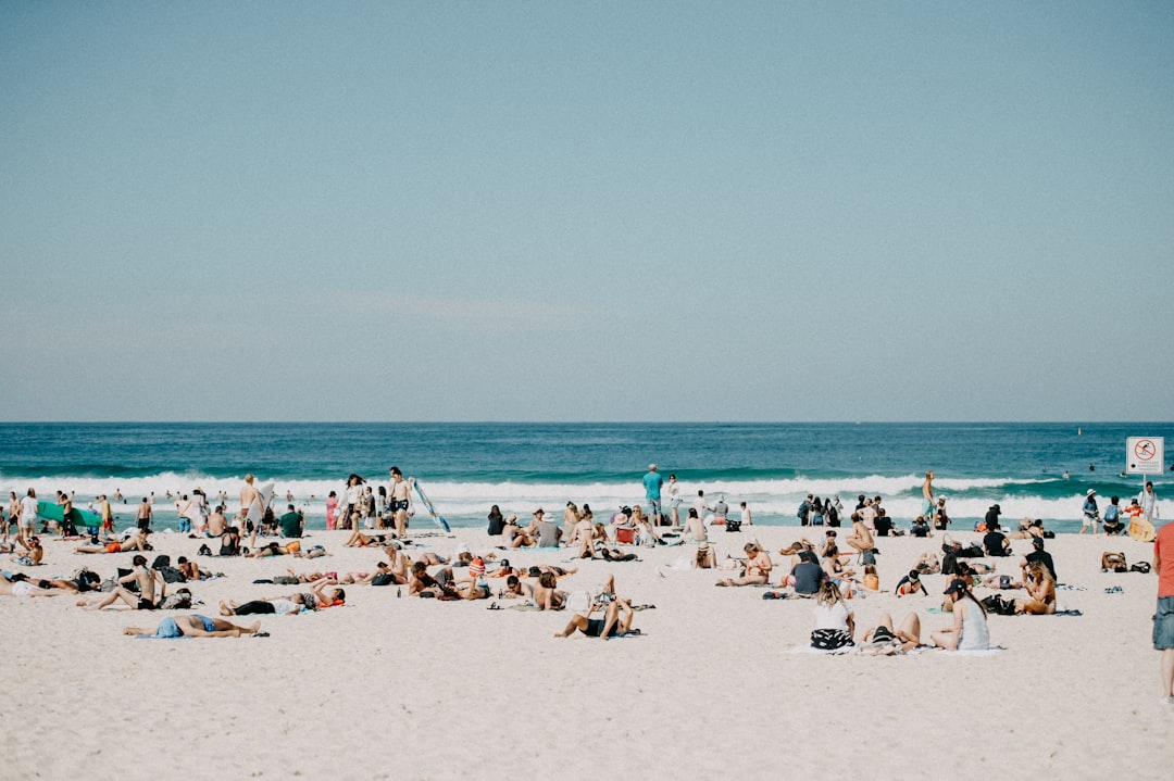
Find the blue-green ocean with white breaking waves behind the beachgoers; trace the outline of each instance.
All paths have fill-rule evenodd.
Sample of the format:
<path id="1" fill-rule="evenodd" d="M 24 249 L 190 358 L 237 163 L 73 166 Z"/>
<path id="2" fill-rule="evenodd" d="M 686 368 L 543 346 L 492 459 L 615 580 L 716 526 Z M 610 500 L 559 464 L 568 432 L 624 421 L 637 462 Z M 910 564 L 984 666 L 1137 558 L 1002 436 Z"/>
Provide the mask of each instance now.
<path id="1" fill-rule="evenodd" d="M 156 527 L 174 528 L 174 498 L 201 488 L 224 491 L 237 509 L 243 476 L 275 483 L 324 528 L 324 500 L 348 475 L 386 484 L 398 466 L 419 480 L 454 527 L 479 527 L 492 504 L 528 518 L 537 507 L 561 517 L 567 501 L 606 518 L 641 502 L 641 478 L 655 462 L 675 474 L 686 507 L 696 491 L 745 501 L 755 523 L 797 525 L 807 494 L 883 497 L 898 525 L 920 507 L 925 471 L 946 496 L 954 529 L 971 528 L 998 503 L 1004 525 L 1025 516 L 1058 532 L 1080 528 L 1085 491 L 1135 496 L 1125 475 L 1126 440 L 1163 437 L 1174 423 L 0 423 L 0 488 L 39 497 L 75 494 L 85 508 L 120 491 L 119 525 L 155 497 Z M 1169 457 L 1149 475 L 1162 518 L 1174 514 Z M 431 528 L 423 508 L 413 529 Z"/>

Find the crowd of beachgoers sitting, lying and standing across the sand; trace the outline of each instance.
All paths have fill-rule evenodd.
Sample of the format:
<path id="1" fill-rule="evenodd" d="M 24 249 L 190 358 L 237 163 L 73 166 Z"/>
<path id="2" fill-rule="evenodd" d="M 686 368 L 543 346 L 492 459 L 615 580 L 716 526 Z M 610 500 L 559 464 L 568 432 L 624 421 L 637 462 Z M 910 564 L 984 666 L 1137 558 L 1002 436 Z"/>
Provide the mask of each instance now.
<path id="1" fill-rule="evenodd" d="M 981 534 L 980 543 L 963 545 L 951 538 L 949 530 L 952 522 L 946 514 L 945 497 L 933 495 L 932 480 L 933 473 L 926 473 L 922 514 L 913 518 L 908 530 L 892 523 L 882 507 L 880 496 L 862 494 L 857 497 L 856 508 L 845 512 L 838 495 L 828 500 L 809 495 L 797 511 L 801 528 L 823 528 L 824 537 L 812 543 L 802 536 L 778 550 L 781 559 L 776 563 L 757 539 L 743 545 L 743 555 L 718 558 L 710 539 L 714 530 L 724 528 L 728 531 L 753 532 L 754 521 L 747 503 L 741 502 L 740 510 L 731 514 L 724 496 L 709 500 L 703 490 L 697 490 L 691 505 L 684 508 L 684 497 L 675 475 L 670 475 L 666 483 L 655 464 L 649 466 L 643 478 L 645 507 L 639 503 L 622 505 L 608 514 L 605 521 L 596 518 L 588 504 L 580 507 L 568 501 L 561 523 L 542 508 L 535 508 L 528 521 L 522 523 L 515 514 L 505 515 L 498 505 L 493 505 L 487 516 L 486 550 L 474 552 L 461 546 L 451 556 L 413 545 L 409 535 L 410 518 L 414 514 L 411 484 L 398 468 L 389 470 L 389 485 L 379 485 L 377 491 L 372 491 L 363 477 L 352 474 L 342 497 L 328 503 L 328 529 L 349 529 L 351 535 L 346 545 L 378 549 L 386 561 L 377 562 L 367 571 L 342 573 L 326 570 L 298 575 L 291 568 L 284 568 L 284 573 L 276 575 L 272 583 L 304 584 L 308 590 L 239 603 L 221 600 L 218 617 L 168 617 L 154 631 L 142 627 L 128 627 L 126 631 L 128 634 L 153 637 L 261 634 L 259 623 L 241 626 L 228 619 L 237 616 L 299 614 L 342 606 L 346 604 L 343 586 L 353 585 L 393 586 L 398 596 L 439 602 L 490 600 L 490 607 L 494 610 L 507 600 L 520 600 L 520 604 L 538 611 L 568 610 L 573 617 L 556 637 L 583 633 L 606 639 L 639 633 L 634 626 L 634 613 L 639 606 L 634 606 L 630 598 L 616 595 L 614 575 L 594 592 L 568 591 L 559 588 L 559 580 L 574 576 L 576 568 L 519 568 L 512 565 L 507 556 L 522 549 L 551 550 L 571 554 L 574 559 L 622 563 L 641 561 L 639 550 L 642 546 L 666 545 L 681 546 L 688 554 L 661 568 L 663 576 L 673 570 L 724 570 L 722 577 L 715 580 L 717 586 L 758 586 L 764 599 L 810 599 L 814 624 L 810 645 L 816 650 L 856 650 L 873 654 L 911 653 L 927 647 L 986 651 L 994 647 L 987 623 L 991 613 L 1055 613 L 1059 584 L 1055 563 L 1046 550 L 1045 541 L 1051 534 L 1044 529 L 1043 522 L 1024 518 L 1018 529 L 1006 534 L 999 519 L 1001 509 L 993 504 L 976 527 L 976 531 Z M 668 502 L 662 505 L 661 494 L 666 488 Z M 1086 527 L 1095 534 L 1100 517 L 1094 494 L 1088 491 L 1084 515 Z M 176 503 L 180 517 L 185 521 L 180 531 L 203 542 L 197 555 L 214 555 L 209 542 L 218 543 L 218 556 L 311 559 L 326 555 L 322 545 L 303 548 L 304 512 L 289 502 L 285 512 L 276 515 L 269 497 L 261 495 L 252 475 L 244 480 L 239 508 L 231 519 L 225 515 L 227 502 L 221 501 L 209 509 L 207 497 L 198 488 L 178 495 Z M 161 556 L 148 566 L 147 552 L 153 550 L 153 512 L 146 498 L 137 508 L 135 525 L 122 534 L 114 530 L 109 502 L 104 496 L 99 497 L 96 528 L 87 529 L 85 535 L 70 528 L 76 524 L 68 523 L 72 497 L 59 493 L 56 504 L 62 508 L 62 522 L 49 528 L 38 516 L 33 489 L 28 489 L 21 498 L 15 491 L 11 493 L 8 514 L 0 525 L 4 528 L 4 544 L 13 550 L 13 563 L 22 568 L 43 564 L 45 550 L 40 536 L 56 532 L 61 538 L 74 538 L 81 543 L 74 548 L 77 555 L 134 554 L 130 569 L 119 570 L 107 578 L 85 566 L 69 578 L 33 578 L 22 571 L 5 571 L 0 576 L 0 596 L 72 596 L 77 597 L 79 606 L 89 610 L 114 606 L 135 611 L 191 609 L 193 593 L 185 584 L 217 577 L 187 557 L 180 557 L 177 565 L 171 566 L 168 557 Z M 1118 504 L 1119 500 L 1114 496 L 1111 510 L 1105 515 L 1108 534 L 1120 532 L 1124 528 L 1121 515 L 1113 511 Z M 1128 515 L 1152 522 L 1155 515 L 1153 484 L 1147 483 L 1146 490 L 1129 507 Z M 1134 507 L 1140 508 L 1139 511 L 1132 511 Z M 36 529 L 39 519 L 45 524 L 40 534 Z M 844 529 L 841 538 L 843 521 L 850 528 Z M 9 524 L 15 528 L 12 544 L 8 544 Z M 364 529 L 372 534 L 365 534 Z M 385 532 L 375 534 L 377 529 Z M 940 561 L 936 551 L 924 552 L 916 568 L 900 577 L 892 593 L 898 598 L 929 597 L 925 576 L 945 576 L 940 609 L 952 614 L 950 624 L 923 633 L 922 618 L 916 610 L 897 623 L 890 613 L 882 612 L 873 626 L 858 632 L 852 605 L 857 598 L 880 591 L 877 557 L 882 550 L 878 539 L 902 535 L 930 538 L 935 531 L 943 539 Z M 281 542 L 269 539 L 258 546 L 258 536 L 279 537 Z M 245 539 L 248 545 L 243 544 Z M 1017 573 L 1000 572 L 997 562 L 1012 555 L 1012 539 L 1031 541 L 1032 551 L 1018 562 Z M 996 563 L 978 561 L 986 558 Z M 1112 551 L 1106 551 L 1101 563 L 1104 571 L 1121 571 L 1126 564 L 1124 552 Z M 168 585 L 173 583 L 184 585 L 168 595 Z M 1004 598 L 1000 593 L 991 593 L 979 598 L 977 589 L 1019 591 L 1021 596 Z M 596 613 L 599 618 L 594 617 Z M 1155 629 L 1155 645 L 1158 643 Z"/>

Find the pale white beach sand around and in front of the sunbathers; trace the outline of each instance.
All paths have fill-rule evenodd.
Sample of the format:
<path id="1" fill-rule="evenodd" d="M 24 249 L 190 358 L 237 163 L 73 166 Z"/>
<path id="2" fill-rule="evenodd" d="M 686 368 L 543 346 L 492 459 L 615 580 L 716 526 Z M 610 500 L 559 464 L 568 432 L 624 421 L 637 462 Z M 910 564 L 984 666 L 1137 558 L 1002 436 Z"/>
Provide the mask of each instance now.
<path id="1" fill-rule="evenodd" d="M 799 532 L 755 527 L 717 532 L 715 543 L 722 555 L 740 552 L 757 535 L 777 551 Z M 490 548 L 484 532 L 459 536 Z M 333 556 L 313 562 L 198 558 L 228 577 L 194 584 L 207 604 L 188 612 L 297 590 L 251 583 L 286 565 L 346 571 L 379 561 L 344 539 L 315 532 L 308 544 Z M 155 542 L 173 559 L 200 544 Z M 420 542 L 450 554 L 457 541 Z M 940 552 L 937 537 L 879 543 L 890 590 L 919 552 Z M 131 557 L 72 555 L 60 542 L 46 549 L 40 576 L 82 564 L 106 576 Z M 660 577 L 656 565 L 681 548 L 633 549 L 642 563 L 583 562 L 561 580 L 592 589 L 614 572 L 621 595 L 656 606 L 636 614 L 645 637 L 607 643 L 554 639 L 565 612 L 397 599 L 394 588 L 348 586 L 346 607 L 261 617 L 271 637 L 242 639 L 135 640 L 124 626 L 154 626 L 162 614 L 0 598 L 0 777 L 1167 777 L 1174 708 L 1158 702 L 1156 579 L 1100 572 L 1104 550 L 1124 550 L 1132 564 L 1151 561 L 1152 545 L 1065 536 L 1047 549 L 1061 583 L 1087 588 L 1059 592 L 1061 606 L 1084 616 L 993 616 L 992 640 L 1006 651 L 983 657 L 791 653 L 807 645 L 810 602 L 717 589 L 713 571 Z M 1017 561 L 1000 561 L 1000 571 L 1018 576 Z M 916 609 L 927 636 L 950 622 L 926 612 L 943 580 L 925 578 L 929 598 L 853 600 L 857 625 Z M 1111 585 L 1124 593 L 1104 593 Z"/>

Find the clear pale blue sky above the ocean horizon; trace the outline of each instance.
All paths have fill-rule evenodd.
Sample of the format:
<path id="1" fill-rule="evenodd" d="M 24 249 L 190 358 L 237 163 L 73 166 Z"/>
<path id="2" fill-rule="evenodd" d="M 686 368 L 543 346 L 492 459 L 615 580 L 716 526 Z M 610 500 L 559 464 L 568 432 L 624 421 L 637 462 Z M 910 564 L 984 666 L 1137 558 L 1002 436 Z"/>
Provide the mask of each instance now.
<path id="1" fill-rule="evenodd" d="M 0 2 L 0 419 L 1172 420 L 1174 4 Z"/>

